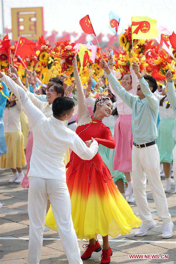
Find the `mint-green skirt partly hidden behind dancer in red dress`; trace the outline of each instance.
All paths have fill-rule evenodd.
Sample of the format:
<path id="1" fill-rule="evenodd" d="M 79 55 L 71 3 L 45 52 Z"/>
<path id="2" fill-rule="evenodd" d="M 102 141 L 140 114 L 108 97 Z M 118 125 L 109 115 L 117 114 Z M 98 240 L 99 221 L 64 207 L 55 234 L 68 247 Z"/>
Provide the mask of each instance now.
<path id="1" fill-rule="evenodd" d="M 111 130 L 112 136 L 114 138 L 114 126 L 110 126 L 109 129 Z M 113 177 L 113 181 L 116 182 L 119 179 L 122 179 L 123 182 L 127 182 L 126 177 L 123 172 L 119 172 L 117 170 L 113 170 L 113 162 L 114 162 L 114 155 L 115 155 L 115 148 L 107 148 L 101 144 L 98 147 L 98 153 L 100 154 L 102 160 L 108 167 L 111 175 Z"/>

